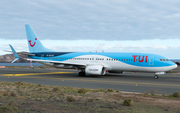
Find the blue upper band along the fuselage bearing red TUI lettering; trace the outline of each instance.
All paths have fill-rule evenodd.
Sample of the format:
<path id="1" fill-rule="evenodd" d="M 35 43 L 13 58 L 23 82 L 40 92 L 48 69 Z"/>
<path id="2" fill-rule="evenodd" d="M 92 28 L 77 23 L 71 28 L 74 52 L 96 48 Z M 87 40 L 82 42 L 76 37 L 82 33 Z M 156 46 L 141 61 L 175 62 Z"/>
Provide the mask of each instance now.
<path id="1" fill-rule="evenodd" d="M 149 53 L 42 52 L 42 53 L 31 53 L 31 54 L 35 54 L 35 56 L 29 56 L 30 58 L 33 58 L 33 59 L 48 60 L 48 57 L 51 57 L 51 58 L 54 58 L 54 59 L 51 59 L 54 61 L 66 61 L 66 59 L 55 59 L 57 57 L 75 58 L 75 57 L 84 56 L 84 55 L 101 55 L 101 56 L 109 57 L 111 59 L 118 59 L 118 60 L 120 59 L 120 62 L 129 64 L 129 65 L 133 65 L 133 66 L 140 66 L 140 67 L 165 67 L 165 66 L 175 65 L 171 61 L 165 61 L 165 62 L 160 61 L 160 59 L 166 59 L 163 56 L 156 55 L 156 54 L 149 54 Z M 137 61 L 136 60 L 134 61 L 133 56 L 136 56 Z M 144 59 L 142 59 L 143 56 L 144 56 Z M 147 56 L 147 60 L 146 60 L 146 56 Z M 139 57 L 140 57 L 140 61 L 143 61 L 143 62 L 139 61 Z M 121 60 L 121 59 L 123 59 L 123 60 Z M 125 61 L 124 61 L 124 59 L 125 59 Z M 129 59 L 130 59 L 130 61 L 129 61 Z M 150 59 L 152 61 L 150 61 Z M 105 60 L 107 60 L 107 59 L 105 59 Z"/>

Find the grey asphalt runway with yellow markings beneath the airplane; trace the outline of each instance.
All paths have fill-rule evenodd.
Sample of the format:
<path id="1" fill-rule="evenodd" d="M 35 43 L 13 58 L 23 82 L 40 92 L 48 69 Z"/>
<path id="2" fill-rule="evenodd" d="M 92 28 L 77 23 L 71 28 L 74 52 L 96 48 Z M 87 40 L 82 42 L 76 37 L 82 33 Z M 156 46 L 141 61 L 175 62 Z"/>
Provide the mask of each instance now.
<path id="1" fill-rule="evenodd" d="M 27 82 L 54 86 L 84 87 L 146 93 L 153 90 L 158 94 L 180 92 L 180 74 L 160 75 L 154 79 L 153 73 L 107 74 L 105 76 L 79 77 L 76 70 L 47 69 L 0 69 L 0 81 Z"/>

